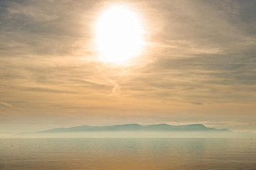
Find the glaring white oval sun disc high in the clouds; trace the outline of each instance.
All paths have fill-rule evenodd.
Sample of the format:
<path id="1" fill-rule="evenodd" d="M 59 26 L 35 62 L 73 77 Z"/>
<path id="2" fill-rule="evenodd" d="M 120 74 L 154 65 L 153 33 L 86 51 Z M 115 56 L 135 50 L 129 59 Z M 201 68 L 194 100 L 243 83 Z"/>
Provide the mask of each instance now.
<path id="1" fill-rule="evenodd" d="M 124 63 L 142 51 L 142 22 L 125 6 L 112 6 L 103 11 L 95 30 L 98 57 L 102 62 Z"/>

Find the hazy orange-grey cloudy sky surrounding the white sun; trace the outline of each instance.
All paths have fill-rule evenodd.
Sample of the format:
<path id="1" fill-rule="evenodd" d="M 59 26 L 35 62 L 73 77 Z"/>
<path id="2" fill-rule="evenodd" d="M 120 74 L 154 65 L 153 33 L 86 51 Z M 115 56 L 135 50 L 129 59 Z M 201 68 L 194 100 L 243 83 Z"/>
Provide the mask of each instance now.
<path id="1" fill-rule="evenodd" d="M 142 19 L 142 53 L 98 60 L 101 11 Z M 256 132 L 256 1 L 0 0 L 0 136 L 76 125 L 202 123 Z"/>

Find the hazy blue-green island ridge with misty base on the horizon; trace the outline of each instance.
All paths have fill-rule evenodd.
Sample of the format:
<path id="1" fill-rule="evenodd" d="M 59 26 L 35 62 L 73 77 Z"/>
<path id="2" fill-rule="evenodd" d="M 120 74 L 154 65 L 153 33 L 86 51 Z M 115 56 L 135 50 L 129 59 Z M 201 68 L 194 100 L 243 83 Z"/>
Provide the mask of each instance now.
<path id="1" fill-rule="evenodd" d="M 53 128 L 38 132 L 23 132 L 16 137 L 255 137 L 252 132 L 233 132 L 228 129 L 208 128 L 203 124 L 168 125 L 80 125 Z"/>

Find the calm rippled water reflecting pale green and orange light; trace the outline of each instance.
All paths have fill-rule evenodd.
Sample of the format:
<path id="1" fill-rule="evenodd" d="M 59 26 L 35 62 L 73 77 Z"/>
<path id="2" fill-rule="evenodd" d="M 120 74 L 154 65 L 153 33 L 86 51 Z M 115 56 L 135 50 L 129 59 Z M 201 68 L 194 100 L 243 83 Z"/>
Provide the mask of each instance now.
<path id="1" fill-rule="evenodd" d="M 1 170 L 256 169 L 256 139 L 0 139 Z"/>

